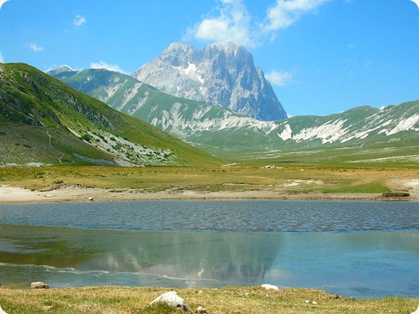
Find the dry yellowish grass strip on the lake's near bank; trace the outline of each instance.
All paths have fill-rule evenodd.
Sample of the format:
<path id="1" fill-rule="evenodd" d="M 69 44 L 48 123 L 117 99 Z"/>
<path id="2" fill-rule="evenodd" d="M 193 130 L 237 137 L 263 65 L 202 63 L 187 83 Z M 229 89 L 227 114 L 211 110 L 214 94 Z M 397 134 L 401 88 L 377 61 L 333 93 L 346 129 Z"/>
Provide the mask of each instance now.
<path id="1" fill-rule="evenodd" d="M 152 287 L 79 287 L 58 290 L 0 288 L 0 305 L 10 314 L 179 313 L 164 306 L 148 307 L 153 299 L 169 290 Z M 209 314 L 408 314 L 419 305 L 419 299 L 352 299 L 307 289 L 273 291 L 261 287 L 224 287 L 218 290 L 188 288 L 176 291 L 193 311 L 202 306 Z"/>

